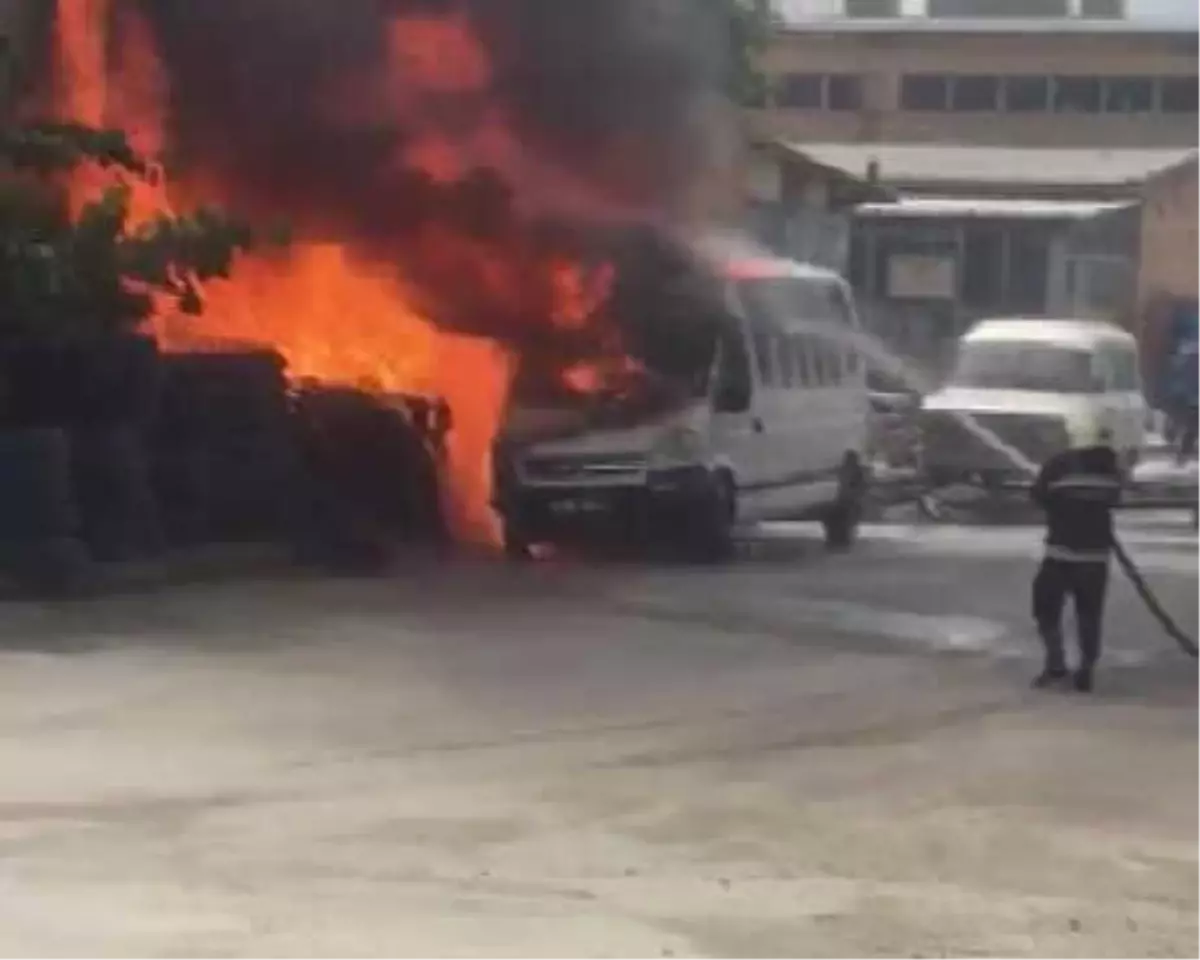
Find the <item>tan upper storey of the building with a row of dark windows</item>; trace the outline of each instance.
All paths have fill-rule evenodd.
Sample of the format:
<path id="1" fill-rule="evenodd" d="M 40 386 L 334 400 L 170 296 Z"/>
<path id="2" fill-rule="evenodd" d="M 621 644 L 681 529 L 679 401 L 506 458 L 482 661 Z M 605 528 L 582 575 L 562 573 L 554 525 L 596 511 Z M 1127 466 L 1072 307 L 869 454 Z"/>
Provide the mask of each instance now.
<path id="1" fill-rule="evenodd" d="M 1009 0 L 1004 0 L 1009 2 Z M 781 26 L 756 132 L 806 142 L 1200 145 L 1200 30 L 1121 19 Z"/>

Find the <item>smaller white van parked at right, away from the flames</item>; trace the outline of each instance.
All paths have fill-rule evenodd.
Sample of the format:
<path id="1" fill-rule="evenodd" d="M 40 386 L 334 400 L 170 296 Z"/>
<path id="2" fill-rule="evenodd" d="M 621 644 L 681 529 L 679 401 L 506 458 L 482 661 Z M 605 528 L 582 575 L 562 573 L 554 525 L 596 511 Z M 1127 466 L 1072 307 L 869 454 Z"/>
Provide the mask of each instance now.
<path id="1" fill-rule="evenodd" d="M 971 434 L 962 414 L 1034 464 L 1097 443 L 1103 428 L 1133 470 L 1146 434 L 1138 342 L 1084 319 L 990 319 L 962 336 L 949 379 L 922 407 L 926 474 L 937 486 L 1019 485 L 1025 474 Z"/>

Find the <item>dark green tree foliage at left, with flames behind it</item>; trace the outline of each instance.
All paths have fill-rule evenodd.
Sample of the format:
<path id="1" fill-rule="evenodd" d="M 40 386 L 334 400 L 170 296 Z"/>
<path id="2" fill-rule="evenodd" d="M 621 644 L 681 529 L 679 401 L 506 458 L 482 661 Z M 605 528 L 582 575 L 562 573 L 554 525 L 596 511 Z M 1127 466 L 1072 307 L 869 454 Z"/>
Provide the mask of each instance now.
<path id="1" fill-rule="evenodd" d="M 84 162 L 119 170 L 72 220 L 55 190 Z M 197 313 L 197 284 L 227 276 L 254 235 L 218 210 L 130 227 L 132 178 L 154 170 L 124 133 L 74 125 L 0 130 L 0 338 L 95 337 L 136 329 L 168 296 Z"/>

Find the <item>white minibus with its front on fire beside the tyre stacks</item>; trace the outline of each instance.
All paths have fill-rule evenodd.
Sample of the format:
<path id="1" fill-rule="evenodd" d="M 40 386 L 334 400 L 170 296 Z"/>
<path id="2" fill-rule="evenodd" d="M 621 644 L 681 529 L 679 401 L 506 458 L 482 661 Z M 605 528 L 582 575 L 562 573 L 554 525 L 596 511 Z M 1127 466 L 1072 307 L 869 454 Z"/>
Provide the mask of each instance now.
<path id="1" fill-rule="evenodd" d="M 671 538 L 726 556 L 739 521 L 812 518 L 848 547 L 866 487 L 869 394 L 858 318 L 836 274 L 792 260 L 703 262 L 719 332 L 706 373 L 671 409 L 529 440 L 570 420 L 521 389 L 496 450 L 494 505 L 510 556 L 587 536 Z M 553 427 L 548 431 L 553 434 Z"/>

